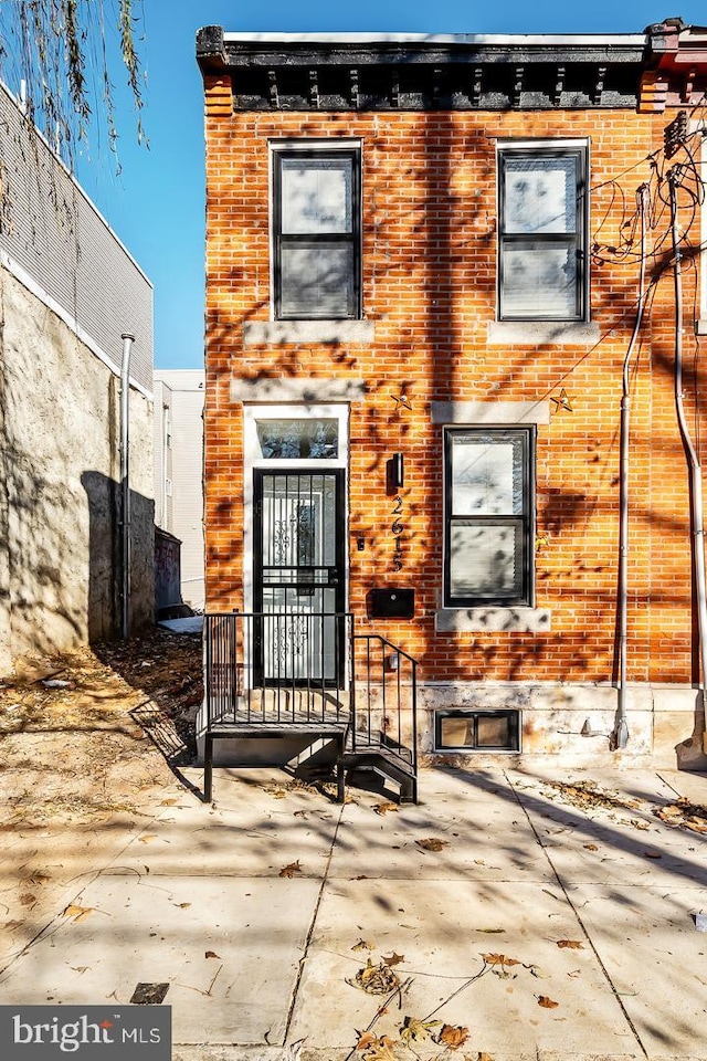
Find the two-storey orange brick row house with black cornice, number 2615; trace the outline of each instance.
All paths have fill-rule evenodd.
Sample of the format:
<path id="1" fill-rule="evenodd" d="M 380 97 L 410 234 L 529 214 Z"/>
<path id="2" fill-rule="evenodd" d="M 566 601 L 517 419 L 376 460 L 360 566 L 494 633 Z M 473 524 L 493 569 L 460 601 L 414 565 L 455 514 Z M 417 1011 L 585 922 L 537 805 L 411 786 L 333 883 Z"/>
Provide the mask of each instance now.
<path id="1" fill-rule="evenodd" d="M 339 668 L 381 746 L 704 767 L 707 30 L 197 54 L 204 728 Z"/>

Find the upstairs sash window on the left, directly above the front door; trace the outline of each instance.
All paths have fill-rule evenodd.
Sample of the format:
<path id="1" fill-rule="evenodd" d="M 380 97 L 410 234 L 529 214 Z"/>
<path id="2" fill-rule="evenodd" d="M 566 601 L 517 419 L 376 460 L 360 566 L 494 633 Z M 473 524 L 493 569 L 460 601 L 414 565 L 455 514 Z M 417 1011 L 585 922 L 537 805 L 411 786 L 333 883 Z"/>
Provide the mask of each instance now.
<path id="1" fill-rule="evenodd" d="M 361 315 L 359 148 L 273 151 L 275 317 Z"/>

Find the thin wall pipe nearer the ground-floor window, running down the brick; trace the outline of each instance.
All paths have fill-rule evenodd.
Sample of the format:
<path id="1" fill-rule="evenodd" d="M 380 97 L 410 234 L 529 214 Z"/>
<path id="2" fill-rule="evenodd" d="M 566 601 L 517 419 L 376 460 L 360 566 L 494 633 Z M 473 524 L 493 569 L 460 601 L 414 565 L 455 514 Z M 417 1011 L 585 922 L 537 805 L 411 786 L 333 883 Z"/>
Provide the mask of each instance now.
<path id="1" fill-rule="evenodd" d="M 619 451 L 619 713 L 614 740 L 618 748 L 629 743 L 626 722 L 626 660 L 627 660 L 627 602 L 629 602 L 629 443 L 631 426 L 631 358 L 639 338 L 645 305 L 645 210 L 647 186 L 639 189 L 641 212 L 641 274 L 639 277 L 639 304 L 633 324 L 633 334 L 623 360 L 621 390 L 621 445 Z"/>

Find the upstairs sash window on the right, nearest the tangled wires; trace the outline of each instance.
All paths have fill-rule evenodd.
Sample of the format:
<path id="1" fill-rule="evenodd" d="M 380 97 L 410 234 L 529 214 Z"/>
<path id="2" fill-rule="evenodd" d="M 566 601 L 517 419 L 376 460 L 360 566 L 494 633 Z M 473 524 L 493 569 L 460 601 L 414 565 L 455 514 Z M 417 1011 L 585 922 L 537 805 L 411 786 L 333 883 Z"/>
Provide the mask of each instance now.
<path id="1" fill-rule="evenodd" d="M 585 321 L 585 141 L 498 148 L 502 321 Z"/>

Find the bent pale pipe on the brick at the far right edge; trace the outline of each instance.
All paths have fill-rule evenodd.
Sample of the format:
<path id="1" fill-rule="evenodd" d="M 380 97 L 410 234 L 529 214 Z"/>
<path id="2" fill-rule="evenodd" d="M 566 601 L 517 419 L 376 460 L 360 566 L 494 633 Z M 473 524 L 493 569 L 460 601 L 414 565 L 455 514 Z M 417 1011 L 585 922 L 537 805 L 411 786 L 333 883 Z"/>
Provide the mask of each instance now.
<path id="1" fill-rule="evenodd" d="M 699 691 L 703 713 L 703 750 L 707 752 L 707 715 L 705 690 L 707 686 L 707 588 L 705 582 L 705 527 L 703 517 L 703 477 L 699 459 L 685 419 L 683 406 L 683 267 L 677 227 L 677 188 L 679 169 L 674 167 L 667 175 L 671 189 L 671 223 L 673 229 L 673 274 L 675 279 L 675 408 L 680 438 L 689 466 L 692 551 L 697 595 L 697 631 L 699 641 Z"/>

